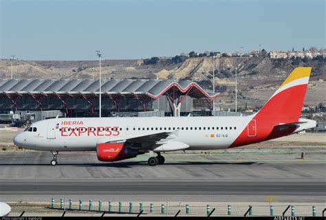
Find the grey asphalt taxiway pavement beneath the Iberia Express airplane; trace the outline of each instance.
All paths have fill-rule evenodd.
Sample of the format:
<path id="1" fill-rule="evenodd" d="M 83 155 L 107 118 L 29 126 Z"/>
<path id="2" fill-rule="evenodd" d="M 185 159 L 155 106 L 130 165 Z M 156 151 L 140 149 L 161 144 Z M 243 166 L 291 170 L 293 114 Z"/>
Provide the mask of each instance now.
<path id="1" fill-rule="evenodd" d="M 148 155 L 98 162 L 94 152 L 61 153 L 50 166 L 43 151 L 0 152 L 0 200 L 49 201 L 51 197 L 116 201 L 325 202 L 326 151 L 166 154 L 148 166 Z"/>

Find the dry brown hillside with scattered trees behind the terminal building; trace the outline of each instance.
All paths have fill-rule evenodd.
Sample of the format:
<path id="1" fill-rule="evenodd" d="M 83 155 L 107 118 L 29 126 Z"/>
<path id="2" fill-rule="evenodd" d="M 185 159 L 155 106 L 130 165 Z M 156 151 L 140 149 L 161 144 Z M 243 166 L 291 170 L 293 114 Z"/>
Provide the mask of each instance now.
<path id="1" fill-rule="evenodd" d="M 215 60 L 215 85 L 221 96 L 217 106 L 234 107 L 235 67 L 238 69 L 239 107 L 256 107 L 267 100 L 276 87 L 298 66 L 311 66 L 312 77 L 306 104 L 326 103 L 326 60 L 292 61 L 270 58 L 231 57 Z M 14 78 L 98 78 L 98 61 L 14 61 Z M 10 60 L 0 60 L 0 77 L 10 77 Z M 213 63 L 208 57 L 184 58 L 171 62 L 160 58 L 155 65 L 143 60 L 102 61 L 103 78 L 191 79 L 212 89 Z"/>

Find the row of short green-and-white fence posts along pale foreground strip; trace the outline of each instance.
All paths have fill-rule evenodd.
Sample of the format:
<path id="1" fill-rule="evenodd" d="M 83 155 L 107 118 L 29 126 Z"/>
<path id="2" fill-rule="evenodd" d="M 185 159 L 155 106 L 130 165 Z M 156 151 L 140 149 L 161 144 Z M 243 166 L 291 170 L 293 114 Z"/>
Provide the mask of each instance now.
<path id="1" fill-rule="evenodd" d="M 157 215 L 157 216 L 322 216 L 325 207 L 307 206 L 292 204 L 279 205 L 277 203 L 268 203 L 264 205 L 197 205 L 195 202 L 131 202 L 131 201 L 83 201 L 81 199 L 72 201 L 60 199 L 55 201 L 51 199 L 50 206 L 47 208 L 65 211 L 83 211 L 83 212 L 105 212 L 105 216 L 109 214 L 141 214 Z M 251 207 L 251 208 L 250 208 Z M 214 210 L 212 212 L 212 210 Z M 212 213 L 210 213 L 212 212 Z"/>

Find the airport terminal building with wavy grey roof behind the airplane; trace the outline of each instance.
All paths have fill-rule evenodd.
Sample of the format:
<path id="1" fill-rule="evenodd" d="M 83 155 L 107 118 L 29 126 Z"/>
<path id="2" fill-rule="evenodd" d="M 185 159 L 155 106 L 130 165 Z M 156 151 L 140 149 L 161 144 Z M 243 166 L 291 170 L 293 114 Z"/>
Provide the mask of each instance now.
<path id="1" fill-rule="evenodd" d="M 218 93 L 191 80 L 102 80 L 102 116 L 209 115 Z M 60 111 L 63 117 L 98 116 L 98 80 L 0 81 L 0 114 Z M 45 118 L 52 118 L 52 116 Z"/>

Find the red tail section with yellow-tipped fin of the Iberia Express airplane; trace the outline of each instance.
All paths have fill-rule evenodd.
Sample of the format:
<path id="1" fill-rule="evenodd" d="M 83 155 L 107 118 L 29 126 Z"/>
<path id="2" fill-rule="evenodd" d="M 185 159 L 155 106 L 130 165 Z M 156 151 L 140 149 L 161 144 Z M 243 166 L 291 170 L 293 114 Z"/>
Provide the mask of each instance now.
<path id="1" fill-rule="evenodd" d="M 279 125 L 298 122 L 311 70 L 311 67 L 294 69 L 261 110 L 248 116 L 250 122 L 231 147 L 291 134 L 296 126 L 282 129 Z"/>

